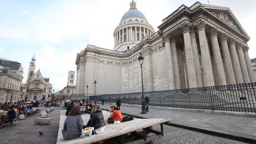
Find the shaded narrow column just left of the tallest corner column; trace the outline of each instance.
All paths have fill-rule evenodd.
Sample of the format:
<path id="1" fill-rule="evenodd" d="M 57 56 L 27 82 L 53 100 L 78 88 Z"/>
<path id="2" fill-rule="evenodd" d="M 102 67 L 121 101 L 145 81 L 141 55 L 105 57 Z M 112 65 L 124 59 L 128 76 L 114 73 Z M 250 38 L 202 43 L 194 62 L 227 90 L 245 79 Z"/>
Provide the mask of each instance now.
<path id="1" fill-rule="evenodd" d="M 200 66 L 200 60 L 199 60 L 199 52 L 197 49 L 196 33 L 194 32 L 194 28 L 191 28 L 190 39 L 191 39 L 191 46 L 192 46 L 193 57 L 194 57 L 194 65 L 195 65 L 195 69 L 196 69 L 197 87 L 203 87 L 203 79 L 201 78 L 201 66 Z"/>

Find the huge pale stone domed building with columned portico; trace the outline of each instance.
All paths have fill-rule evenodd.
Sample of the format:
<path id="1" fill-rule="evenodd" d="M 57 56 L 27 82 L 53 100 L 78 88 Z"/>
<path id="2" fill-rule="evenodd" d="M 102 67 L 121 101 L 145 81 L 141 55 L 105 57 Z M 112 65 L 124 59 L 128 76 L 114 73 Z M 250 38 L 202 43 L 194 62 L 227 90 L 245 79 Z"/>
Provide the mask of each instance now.
<path id="1" fill-rule="evenodd" d="M 134 2 L 130 5 L 130 11 L 136 8 Z M 229 8 L 200 2 L 181 5 L 164 18 L 159 31 L 137 40 L 144 23 L 149 25 L 145 15 L 126 12 L 114 31 L 114 50 L 88 45 L 78 53 L 76 94 L 86 94 L 87 85 L 89 95 L 141 92 L 140 52 L 145 58 L 144 91 L 255 82 L 249 66 L 250 38 Z M 128 30 L 120 28 L 123 24 Z M 126 31 L 133 45 L 121 49 L 127 46 L 122 39 Z"/>

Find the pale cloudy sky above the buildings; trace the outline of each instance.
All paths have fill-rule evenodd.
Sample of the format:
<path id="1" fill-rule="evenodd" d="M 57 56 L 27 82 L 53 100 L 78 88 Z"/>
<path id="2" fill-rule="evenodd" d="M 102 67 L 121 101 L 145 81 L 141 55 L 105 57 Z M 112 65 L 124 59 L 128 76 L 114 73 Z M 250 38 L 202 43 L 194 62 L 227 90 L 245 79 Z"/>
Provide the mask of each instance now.
<path id="1" fill-rule="evenodd" d="M 36 56 L 36 71 L 50 78 L 53 89 L 66 87 L 68 72 L 76 71 L 76 54 L 88 44 L 114 48 L 114 29 L 132 0 L 0 0 L 0 57 L 24 68 Z M 162 20 L 192 0 L 135 0 L 155 31 Z M 201 4 L 229 7 L 251 40 L 249 57 L 256 57 L 255 0 L 202 0 Z"/>

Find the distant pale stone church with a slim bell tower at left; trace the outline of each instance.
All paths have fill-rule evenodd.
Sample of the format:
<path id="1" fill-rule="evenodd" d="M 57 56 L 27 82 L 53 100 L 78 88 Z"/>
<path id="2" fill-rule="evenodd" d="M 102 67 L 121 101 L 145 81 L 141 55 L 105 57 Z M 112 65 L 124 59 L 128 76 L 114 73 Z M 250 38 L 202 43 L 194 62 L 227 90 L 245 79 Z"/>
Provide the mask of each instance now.
<path id="1" fill-rule="evenodd" d="M 50 100 L 52 84 L 44 78 L 40 69 L 36 72 L 36 57 L 32 57 L 28 68 L 27 84 L 21 85 L 22 100 Z"/>

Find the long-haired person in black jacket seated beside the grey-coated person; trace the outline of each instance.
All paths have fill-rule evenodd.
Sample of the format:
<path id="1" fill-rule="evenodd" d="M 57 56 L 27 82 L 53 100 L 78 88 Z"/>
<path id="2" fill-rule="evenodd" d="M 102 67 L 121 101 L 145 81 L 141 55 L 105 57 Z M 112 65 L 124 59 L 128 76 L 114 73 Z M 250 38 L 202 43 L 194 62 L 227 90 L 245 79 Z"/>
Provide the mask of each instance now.
<path id="1" fill-rule="evenodd" d="M 87 126 L 94 127 L 96 134 L 105 132 L 105 122 L 100 105 L 93 106 Z"/>

